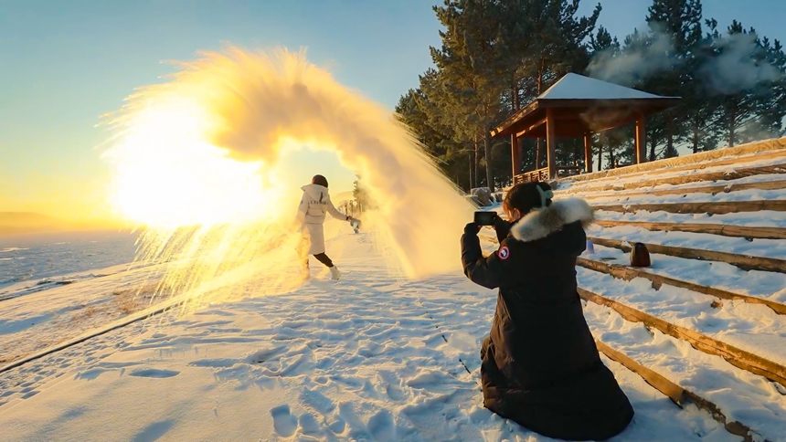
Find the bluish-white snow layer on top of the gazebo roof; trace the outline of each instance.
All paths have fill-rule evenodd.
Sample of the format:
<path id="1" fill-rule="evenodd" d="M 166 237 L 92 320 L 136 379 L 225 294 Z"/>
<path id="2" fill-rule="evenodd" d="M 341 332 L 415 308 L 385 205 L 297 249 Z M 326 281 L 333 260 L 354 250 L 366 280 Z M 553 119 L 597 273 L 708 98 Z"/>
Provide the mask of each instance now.
<path id="1" fill-rule="evenodd" d="M 641 90 L 626 88 L 618 84 L 590 79 L 570 73 L 537 97 L 537 100 L 631 100 L 662 99 Z"/>

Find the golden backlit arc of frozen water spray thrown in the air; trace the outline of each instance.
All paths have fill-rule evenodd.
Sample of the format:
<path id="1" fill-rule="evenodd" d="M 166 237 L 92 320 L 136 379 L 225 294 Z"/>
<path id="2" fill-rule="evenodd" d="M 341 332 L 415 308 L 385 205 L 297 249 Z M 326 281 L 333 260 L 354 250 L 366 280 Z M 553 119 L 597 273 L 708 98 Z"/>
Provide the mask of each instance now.
<path id="1" fill-rule="evenodd" d="M 388 110 L 303 52 L 228 47 L 180 67 L 112 116 L 118 134 L 104 153 L 114 208 L 148 227 L 138 258 L 169 261 L 162 285 L 221 299 L 229 287 L 246 296 L 299 285 L 300 189 L 281 183 L 280 160 L 303 145 L 335 152 L 363 177 L 378 205 L 364 226 L 407 276 L 460 268 L 473 209 Z"/>

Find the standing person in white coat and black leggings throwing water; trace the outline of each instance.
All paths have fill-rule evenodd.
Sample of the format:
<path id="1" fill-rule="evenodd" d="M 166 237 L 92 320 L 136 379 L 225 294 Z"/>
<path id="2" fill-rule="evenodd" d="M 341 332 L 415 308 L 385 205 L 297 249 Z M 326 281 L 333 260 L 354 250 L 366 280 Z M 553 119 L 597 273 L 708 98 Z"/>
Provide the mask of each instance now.
<path id="1" fill-rule="evenodd" d="M 314 175 L 311 184 L 304 185 L 303 198 L 298 207 L 297 221 L 301 224 L 303 242 L 308 242 L 308 255 L 330 268 L 332 279 L 339 279 L 341 272 L 324 253 L 324 218 L 330 214 L 335 219 L 351 221 L 352 216 L 344 215 L 335 208 L 327 192 L 327 178 Z M 308 271 L 308 257 L 305 258 L 305 271 Z"/>

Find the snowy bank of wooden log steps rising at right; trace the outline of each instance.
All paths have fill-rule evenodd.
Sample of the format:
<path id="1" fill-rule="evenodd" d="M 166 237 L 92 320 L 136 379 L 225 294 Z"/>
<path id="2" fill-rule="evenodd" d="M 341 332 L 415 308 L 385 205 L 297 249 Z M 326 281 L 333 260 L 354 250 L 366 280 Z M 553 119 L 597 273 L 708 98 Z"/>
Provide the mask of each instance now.
<path id="1" fill-rule="evenodd" d="M 555 191 L 557 200 L 569 197 L 585 199 L 597 220 L 588 231 L 596 254 L 585 254 L 577 262 L 583 300 L 623 321 L 643 323 L 674 342 L 688 342 L 699 352 L 720 358 L 719 366 L 726 363 L 759 376 L 765 384 L 778 384 L 777 391 L 786 396 L 786 333 L 781 332 L 786 329 L 786 138 L 571 176 Z M 630 267 L 626 254 L 634 242 L 650 251 L 651 268 Z M 713 272 L 729 276 L 713 278 Z M 609 288 L 598 280 L 608 281 Z M 649 289 L 631 294 L 633 287 L 645 287 L 633 286 L 637 280 L 646 280 Z M 758 280 L 776 281 L 773 292 L 762 293 Z M 706 297 L 703 318 L 763 321 L 773 324 L 772 332 L 760 331 L 764 335 L 756 339 L 742 331 L 701 332 L 696 325 L 701 321 L 692 320 L 679 303 L 659 303 L 655 294 L 664 288 L 670 288 L 675 300 L 684 299 L 685 305 Z M 754 306 L 765 310 L 753 310 L 759 316 L 750 317 Z M 596 338 L 607 332 L 613 331 L 593 330 Z M 728 411 L 739 416 L 741 410 L 727 410 L 734 405 L 723 399 L 714 401 L 717 392 L 689 391 L 648 368 L 647 361 L 657 360 L 657 353 L 637 361 L 608 342 L 599 340 L 598 346 L 674 403 L 695 404 L 744 440 L 786 439 L 786 431 L 761 434 L 755 425 L 732 422 Z M 786 428 L 786 401 L 779 406 Z"/>

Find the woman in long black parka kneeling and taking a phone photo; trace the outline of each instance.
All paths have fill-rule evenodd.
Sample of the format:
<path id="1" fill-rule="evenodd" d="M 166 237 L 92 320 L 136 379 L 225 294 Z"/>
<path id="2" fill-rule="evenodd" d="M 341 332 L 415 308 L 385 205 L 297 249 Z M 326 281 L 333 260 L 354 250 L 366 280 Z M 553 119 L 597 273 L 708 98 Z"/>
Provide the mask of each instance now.
<path id="1" fill-rule="evenodd" d="M 600 361 L 577 292 L 576 258 L 593 221 L 583 200 L 553 202 L 545 183 L 517 184 L 498 218 L 499 249 L 483 258 L 480 227 L 462 236 L 464 274 L 499 288 L 481 349 L 483 405 L 547 437 L 602 440 L 633 418 L 628 398 Z"/>

